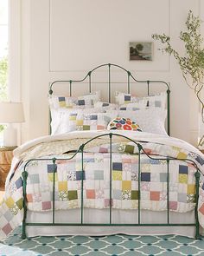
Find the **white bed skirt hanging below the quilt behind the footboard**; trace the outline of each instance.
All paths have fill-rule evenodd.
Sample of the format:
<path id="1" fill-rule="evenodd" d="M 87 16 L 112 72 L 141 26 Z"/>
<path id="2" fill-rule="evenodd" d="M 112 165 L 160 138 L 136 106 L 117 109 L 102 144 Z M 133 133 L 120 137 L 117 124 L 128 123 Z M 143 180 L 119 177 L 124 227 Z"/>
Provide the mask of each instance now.
<path id="1" fill-rule="evenodd" d="M 137 211 L 112 209 L 112 223 L 137 223 Z M 52 221 L 52 212 L 28 211 L 27 222 Z M 58 210 L 55 214 L 56 222 L 79 222 L 80 209 Z M 108 223 L 109 211 L 107 209 L 84 210 L 84 222 Z M 166 223 L 167 212 L 153 212 L 141 210 L 141 223 Z M 169 223 L 194 223 L 194 211 L 188 213 L 169 213 Z M 29 237 L 38 235 L 109 235 L 114 233 L 159 235 L 178 234 L 194 237 L 194 226 L 27 226 L 26 233 Z M 203 230 L 201 230 L 203 233 Z"/>

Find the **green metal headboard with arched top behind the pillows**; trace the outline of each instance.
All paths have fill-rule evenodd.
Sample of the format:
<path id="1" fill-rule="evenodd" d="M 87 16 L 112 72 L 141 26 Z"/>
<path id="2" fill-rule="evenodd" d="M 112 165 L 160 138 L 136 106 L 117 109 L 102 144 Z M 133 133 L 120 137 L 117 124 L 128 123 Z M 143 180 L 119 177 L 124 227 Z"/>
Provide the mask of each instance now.
<path id="1" fill-rule="evenodd" d="M 91 71 L 89 71 L 86 76 L 81 79 L 81 80 L 57 80 L 54 81 L 50 84 L 49 87 L 49 94 L 52 95 L 53 94 L 53 86 L 54 83 L 58 83 L 58 82 L 68 82 L 69 83 L 69 95 L 72 96 L 72 90 L 73 90 L 73 83 L 74 82 L 85 82 L 86 79 L 88 80 L 89 83 L 89 92 L 92 92 L 92 73 L 100 68 L 103 67 L 108 67 L 108 101 L 111 102 L 111 98 L 112 98 L 112 81 L 111 81 L 111 68 L 112 67 L 117 67 L 118 69 L 122 69 L 124 70 L 124 72 L 126 72 L 127 74 L 127 92 L 128 94 L 131 93 L 131 79 L 135 82 L 141 82 L 141 83 L 145 83 L 147 85 L 147 95 L 150 95 L 150 84 L 151 83 L 162 83 L 166 89 L 167 89 L 167 132 L 168 135 L 170 135 L 170 89 L 169 89 L 169 84 L 167 82 L 161 81 L 161 80 L 137 80 L 133 75 L 131 75 L 131 71 L 124 69 L 123 67 L 116 65 L 116 64 L 112 64 L 112 63 L 107 63 L 107 64 L 102 64 L 99 65 L 98 67 L 92 69 Z"/>

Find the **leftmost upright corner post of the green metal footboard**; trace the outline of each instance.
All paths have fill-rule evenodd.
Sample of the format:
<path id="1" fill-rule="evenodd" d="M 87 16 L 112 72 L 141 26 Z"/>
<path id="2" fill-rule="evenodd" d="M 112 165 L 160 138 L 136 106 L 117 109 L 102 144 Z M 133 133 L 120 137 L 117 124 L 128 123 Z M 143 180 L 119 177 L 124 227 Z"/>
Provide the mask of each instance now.
<path id="1" fill-rule="evenodd" d="M 24 166 L 24 170 L 22 172 L 22 207 L 23 207 L 23 219 L 22 219 L 22 239 L 26 239 L 26 217 L 27 217 L 27 198 L 26 198 L 26 186 L 27 186 L 27 178 L 28 173 L 26 172 L 26 165 Z"/>

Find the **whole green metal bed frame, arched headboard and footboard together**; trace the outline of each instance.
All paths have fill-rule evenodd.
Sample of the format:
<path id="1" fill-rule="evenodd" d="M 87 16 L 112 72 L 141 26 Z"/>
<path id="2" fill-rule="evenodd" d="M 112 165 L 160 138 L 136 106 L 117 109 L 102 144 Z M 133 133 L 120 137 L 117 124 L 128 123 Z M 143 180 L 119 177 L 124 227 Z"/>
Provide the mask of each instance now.
<path id="1" fill-rule="evenodd" d="M 134 82 L 143 82 L 147 84 L 147 93 L 150 95 L 150 83 L 163 83 L 167 87 L 167 108 L 168 108 L 168 134 L 170 132 L 170 118 L 169 118 L 169 84 L 167 82 L 163 81 L 138 81 L 134 78 L 133 75 L 131 75 L 131 72 L 116 65 L 116 64 L 103 64 L 95 69 L 92 69 L 91 71 L 88 72 L 88 74 L 85 76 L 84 79 L 82 80 L 68 80 L 68 81 L 54 81 L 50 84 L 50 89 L 49 89 L 49 94 L 53 94 L 53 85 L 54 83 L 57 82 L 68 82 L 69 83 L 69 91 L 70 95 L 72 95 L 72 85 L 74 82 L 84 82 L 86 78 L 89 80 L 89 92 L 92 92 L 92 72 L 95 71 L 96 69 L 102 68 L 102 67 L 108 67 L 108 97 L 109 97 L 109 102 L 111 102 L 111 67 L 117 67 L 119 69 L 123 69 L 126 74 L 127 74 L 127 91 L 128 93 L 131 92 L 131 79 Z M 109 168 L 109 173 L 110 173 L 110 194 L 109 194 L 109 200 L 110 200 L 110 206 L 109 206 L 109 223 L 86 223 L 84 221 L 84 154 L 85 154 L 85 147 L 88 143 L 91 141 L 94 141 L 100 137 L 109 137 L 109 143 L 110 143 L 110 168 Z M 112 222 L 112 138 L 114 136 L 119 136 L 123 137 L 127 141 L 133 142 L 138 149 L 138 208 L 133 211 L 137 211 L 137 222 L 136 223 L 113 223 Z M 73 153 L 72 153 L 73 154 Z M 69 161 L 72 160 L 77 154 L 81 154 L 81 201 L 80 201 L 80 222 L 77 223 L 59 223 L 55 221 L 55 173 L 57 171 L 57 161 Z M 151 160 L 156 160 L 156 161 L 166 161 L 167 165 L 167 222 L 166 223 L 141 223 L 141 154 L 146 155 L 149 159 Z M 28 179 L 28 167 L 29 163 L 32 161 L 51 161 L 53 165 L 53 195 L 52 195 L 52 221 L 51 222 L 41 222 L 41 223 L 31 223 L 27 221 L 27 179 Z M 195 207 L 194 207 L 194 223 L 172 223 L 169 220 L 169 162 L 170 161 L 185 161 L 190 164 L 192 164 L 195 168 L 196 171 L 194 173 L 194 178 L 195 178 Z M 22 220 L 22 239 L 27 238 L 26 234 L 26 226 L 194 226 L 195 227 L 195 239 L 200 238 L 200 225 L 199 225 L 199 220 L 198 220 L 198 200 L 199 200 L 199 184 L 200 184 L 200 177 L 201 177 L 201 171 L 199 167 L 197 167 L 196 163 L 192 160 L 188 159 L 176 159 L 173 157 L 162 157 L 162 158 L 157 158 L 154 157 L 153 155 L 147 154 L 144 150 L 143 147 L 140 143 L 131 140 L 131 138 L 128 138 L 127 136 L 124 135 L 118 135 L 114 134 L 112 132 L 104 135 L 98 135 L 93 137 L 90 140 L 87 140 L 86 143 L 80 145 L 80 148 L 76 150 L 76 152 L 71 156 L 71 157 L 64 157 L 64 158 L 41 158 L 41 159 L 30 159 L 25 163 L 23 172 L 22 172 L 22 195 L 23 195 L 23 209 L 24 209 L 24 215 L 23 215 L 23 220 Z"/>

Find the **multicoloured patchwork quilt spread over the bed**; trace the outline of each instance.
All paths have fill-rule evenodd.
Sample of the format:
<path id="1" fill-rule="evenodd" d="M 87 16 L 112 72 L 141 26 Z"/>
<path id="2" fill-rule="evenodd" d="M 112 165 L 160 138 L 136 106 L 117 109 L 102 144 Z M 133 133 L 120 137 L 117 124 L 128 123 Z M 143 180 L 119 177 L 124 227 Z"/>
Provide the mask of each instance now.
<path id="1" fill-rule="evenodd" d="M 29 141 L 15 151 L 15 159 L 0 203 L 0 239 L 6 237 L 22 222 L 22 172 L 26 170 L 27 202 L 30 211 L 52 211 L 53 187 L 55 209 L 80 208 L 83 177 L 84 207 L 167 210 L 167 160 L 169 158 L 169 209 L 186 213 L 194 209 L 196 167 L 201 173 L 199 220 L 204 227 L 204 157 L 187 142 L 163 135 L 141 132 L 114 131 L 112 162 L 110 162 L 109 132 L 73 132 Z M 94 136 L 97 141 L 86 145 L 83 154 L 73 158 L 73 150 Z M 127 141 L 124 135 L 131 138 Z M 156 137 L 157 136 L 157 137 Z M 142 145 L 138 156 L 136 141 Z M 61 147 L 59 149 L 59 143 Z M 49 148 L 52 150 L 49 150 Z M 59 152 L 60 150 L 60 152 Z M 50 154 L 49 154 L 50 151 Z M 55 154 L 54 154 L 55 152 Z M 149 158 L 146 154 L 150 154 Z M 47 161 L 40 159 L 47 158 Z M 56 161 L 53 162 L 53 158 Z M 174 160 L 176 158 L 176 160 Z M 188 159 L 189 161 L 183 161 Z M 140 161 L 140 187 L 138 187 Z M 194 163 L 194 164 L 193 164 Z M 112 201 L 110 201 L 110 171 L 112 172 Z M 139 192 L 140 191 L 140 192 Z"/>

